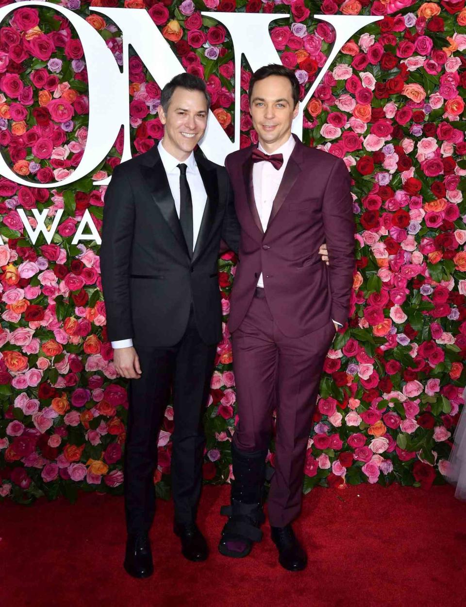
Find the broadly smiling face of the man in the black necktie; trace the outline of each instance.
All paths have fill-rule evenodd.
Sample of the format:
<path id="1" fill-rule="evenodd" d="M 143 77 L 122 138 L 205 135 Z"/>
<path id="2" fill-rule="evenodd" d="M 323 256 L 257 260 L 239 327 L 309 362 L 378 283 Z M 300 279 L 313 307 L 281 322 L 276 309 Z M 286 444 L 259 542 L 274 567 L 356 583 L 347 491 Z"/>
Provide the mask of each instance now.
<path id="1" fill-rule="evenodd" d="M 207 126 L 207 100 L 200 90 L 188 90 L 176 87 L 171 95 L 167 112 L 162 106 L 158 109 L 159 118 L 165 125 L 162 145 L 169 154 L 185 161 Z"/>

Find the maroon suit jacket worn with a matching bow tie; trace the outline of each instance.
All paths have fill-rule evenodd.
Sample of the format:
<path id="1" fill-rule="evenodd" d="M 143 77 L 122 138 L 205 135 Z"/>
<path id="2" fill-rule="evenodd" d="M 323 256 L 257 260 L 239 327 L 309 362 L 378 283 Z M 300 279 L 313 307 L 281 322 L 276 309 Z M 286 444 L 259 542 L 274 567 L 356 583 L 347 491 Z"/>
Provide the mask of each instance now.
<path id="1" fill-rule="evenodd" d="M 331 319 L 345 324 L 354 268 L 354 218 L 345 163 L 293 135 L 295 148 L 262 230 L 254 200 L 251 154 L 229 154 L 225 166 L 241 224 L 239 263 L 228 327 L 239 327 L 262 272 L 265 296 L 279 330 L 301 337 Z M 319 246 L 327 242 L 330 266 Z"/>

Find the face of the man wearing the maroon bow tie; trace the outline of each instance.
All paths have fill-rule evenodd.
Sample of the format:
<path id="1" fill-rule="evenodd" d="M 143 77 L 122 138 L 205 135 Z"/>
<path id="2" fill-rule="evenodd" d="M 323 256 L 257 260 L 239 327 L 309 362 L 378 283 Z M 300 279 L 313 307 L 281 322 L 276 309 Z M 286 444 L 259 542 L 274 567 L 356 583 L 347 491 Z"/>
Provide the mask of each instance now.
<path id="1" fill-rule="evenodd" d="M 291 83 L 285 76 L 267 76 L 255 83 L 251 94 L 251 118 L 259 143 L 268 154 L 288 141 L 291 123 L 298 110 L 299 103 L 295 107 Z"/>

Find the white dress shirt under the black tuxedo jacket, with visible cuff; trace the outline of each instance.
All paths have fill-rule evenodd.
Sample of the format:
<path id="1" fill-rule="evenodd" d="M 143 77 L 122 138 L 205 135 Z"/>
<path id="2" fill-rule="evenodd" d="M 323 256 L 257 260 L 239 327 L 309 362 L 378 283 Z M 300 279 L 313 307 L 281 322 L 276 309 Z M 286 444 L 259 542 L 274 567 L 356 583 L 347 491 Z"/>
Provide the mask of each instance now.
<path id="1" fill-rule="evenodd" d="M 164 165 L 165 173 L 167 174 L 168 185 L 170 186 L 171 195 L 173 196 L 173 200 L 175 200 L 175 209 L 178 218 L 180 206 L 180 171 L 178 168 L 178 164 L 186 164 L 187 166 L 186 177 L 188 180 L 189 189 L 191 191 L 191 198 L 193 200 L 193 246 L 196 246 L 199 228 L 201 228 L 202 215 L 204 215 L 205 203 L 207 202 L 207 192 L 204 188 L 204 182 L 202 181 L 201 173 L 199 172 L 198 165 L 196 164 L 194 152 L 191 152 L 190 156 L 186 160 L 181 162 L 180 160 L 178 160 L 178 158 L 175 158 L 167 152 L 167 150 L 162 145 L 162 141 L 159 141 L 157 149 L 159 151 L 162 164 Z M 133 345 L 133 340 L 119 339 L 118 341 L 114 341 L 111 343 L 113 348 L 130 348 Z"/>

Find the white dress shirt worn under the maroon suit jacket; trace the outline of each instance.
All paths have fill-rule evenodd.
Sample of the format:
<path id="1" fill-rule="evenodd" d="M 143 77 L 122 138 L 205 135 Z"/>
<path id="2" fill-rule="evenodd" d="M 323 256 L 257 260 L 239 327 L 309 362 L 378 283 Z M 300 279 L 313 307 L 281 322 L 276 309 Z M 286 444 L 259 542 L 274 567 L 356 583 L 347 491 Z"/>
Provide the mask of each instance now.
<path id="1" fill-rule="evenodd" d="M 286 141 L 286 143 L 272 152 L 272 154 L 283 154 L 283 164 L 278 170 L 275 169 L 273 164 L 268 160 L 255 162 L 253 164 L 254 198 L 264 232 L 267 229 L 268 220 L 270 219 L 273 200 L 278 192 L 278 188 L 280 187 L 283 174 L 287 168 L 288 160 L 290 160 L 293 148 L 295 148 L 295 140 L 293 135 L 290 135 L 290 138 L 288 141 Z M 261 150 L 261 152 L 268 154 L 268 152 L 262 148 L 260 143 L 258 145 L 258 149 Z M 262 272 L 261 276 L 259 276 L 258 287 L 264 288 Z M 336 320 L 333 320 L 333 322 L 342 327 L 341 323 L 337 322 Z"/>

